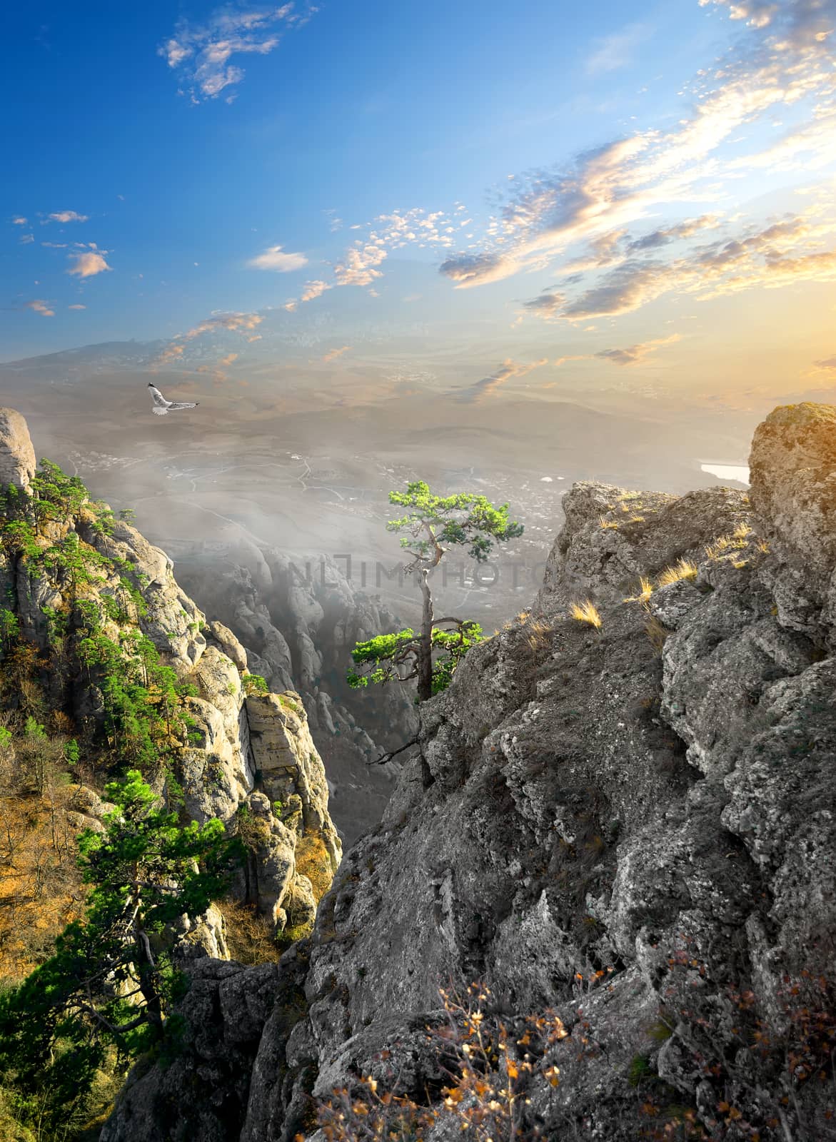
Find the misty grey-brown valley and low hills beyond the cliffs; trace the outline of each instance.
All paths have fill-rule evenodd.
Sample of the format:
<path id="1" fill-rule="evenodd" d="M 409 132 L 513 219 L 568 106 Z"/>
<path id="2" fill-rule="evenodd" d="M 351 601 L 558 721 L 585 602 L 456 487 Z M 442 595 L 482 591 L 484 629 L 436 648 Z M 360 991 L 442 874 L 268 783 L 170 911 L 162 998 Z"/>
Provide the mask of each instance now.
<path id="1" fill-rule="evenodd" d="M 536 593 L 573 481 L 680 493 L 743 486 L 762 412 L 758 402 L 715 410 L 636 386 L 506 395 L 490 391 L 491 377 L 445 386 L 421 362 L 399 372 L 391 363 L 312 370 L 256 361 L 233 379 L 200 364 L 159 368 L 159 356 L 158 344 L 116 343 L 7 363 L 0 396 L 27 418 L 39 455 L 136 512 L 186 587 L 207 590 L 208 571 L 238 565 L 267 588 L 262 553 L 275 548 L 303 579 L 322 579 L 321 560 L 335 561 L 405 622 L 417 618 L 418 593 L 399 573 L 397 537 L 385 528 L 399 514 L 389 490 L 423 478 L 440 493 L 511 505 L 522 539 L 483 568 L 453 550 L 434 577 L 444 613 L 493 629 Z M 199 407 L 152 416 L 150 380 Z"/>

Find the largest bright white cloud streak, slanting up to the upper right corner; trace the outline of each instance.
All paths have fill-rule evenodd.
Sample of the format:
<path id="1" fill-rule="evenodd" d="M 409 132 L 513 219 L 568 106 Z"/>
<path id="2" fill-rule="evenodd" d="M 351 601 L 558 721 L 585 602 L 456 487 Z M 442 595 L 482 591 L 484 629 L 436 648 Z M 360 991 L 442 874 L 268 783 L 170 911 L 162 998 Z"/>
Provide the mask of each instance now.
<path id="1" fill-rule="evenodd" d="M 715 0 L 705 0 L 705 5 Z M 692 106 L 674 127 L 637 130 L 576 155 L 552 170 L 514 177 L 498 192 L 496 212 L 475 244 L 457 250 L 440 265 L 457 289 L 497 282 L 548 267 L 573 254 L 563 272 L 589 273 L 612 265 L 625 252 L 660 248 L 689 236 L 689 223 L 665 223 L 642 239 L 628 233 L 662 210 L 680 214 L 684 203 L 721 203 L 728 198 L 723 178 L 741 178 L 775 159 L 815 167 L 836 153 L 836 72 L 828 27 L 836 27 L 836 0 L 783 0 L 781 3 L 732 5 L 716 0 L 729 14 L 745 14 L 751 24 L 718 65 L 685 85 Z M 609 57 L 606 57 L 609 58 Z M 602 57 L 601 64 L 606 63 Z M 681 95 L 684 93 L 681 93 Z M 769 116 L 791 108 L 806 123 L 763 153 L 746 155 L 749 124 L 769 124 Z M 775 153 L 775 147 L 778 153 Z M 717 223 L 716 212 L 692 225 Z M 632 250 L 603 250 L 605 234 L 620 234 Z M 618 241 L 616 243 L 618 246 Z M 585 246 L 579 255 L 573 248 Z M 570 270 L 570 266 L 572 267 Z"/>

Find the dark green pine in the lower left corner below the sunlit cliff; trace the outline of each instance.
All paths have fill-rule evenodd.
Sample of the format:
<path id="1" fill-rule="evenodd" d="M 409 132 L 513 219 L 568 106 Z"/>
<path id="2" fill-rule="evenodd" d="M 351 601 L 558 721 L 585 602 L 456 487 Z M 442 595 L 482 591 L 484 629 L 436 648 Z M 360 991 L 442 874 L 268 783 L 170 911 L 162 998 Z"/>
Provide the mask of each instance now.
<path id="1" fill-rule="evenodd" d="M 123 1060 L 164 1049 L 184 980 L 172 966 L 170 924 L 204 911 L 241 859 L 220 821 L 179 826 L 138 771 L 112 782 L 105 831 L 79 838 L 90 886 L 83 920 L 22 984 L 0 995 L 3 1081 L 39 1105 L 41 1126 L 91 1089 L 115 1046 Z M 176 1022 L 172 1023 L 176 1031 Z"/>

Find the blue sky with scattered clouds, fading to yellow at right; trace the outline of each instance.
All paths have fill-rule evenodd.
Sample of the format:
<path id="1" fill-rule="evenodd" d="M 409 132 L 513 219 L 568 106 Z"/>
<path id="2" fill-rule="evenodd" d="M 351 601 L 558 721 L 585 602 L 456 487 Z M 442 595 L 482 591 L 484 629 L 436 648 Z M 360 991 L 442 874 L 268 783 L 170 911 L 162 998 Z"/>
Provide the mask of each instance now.
<path id="1" fill-rule="evenodd" d="M 21 6 L 0 359 L 417 346 L 495 394 L 693 386 L 722 347 L 726 386 L 761 356 L 833 384 L 834 29 L 836 0 Z"/>

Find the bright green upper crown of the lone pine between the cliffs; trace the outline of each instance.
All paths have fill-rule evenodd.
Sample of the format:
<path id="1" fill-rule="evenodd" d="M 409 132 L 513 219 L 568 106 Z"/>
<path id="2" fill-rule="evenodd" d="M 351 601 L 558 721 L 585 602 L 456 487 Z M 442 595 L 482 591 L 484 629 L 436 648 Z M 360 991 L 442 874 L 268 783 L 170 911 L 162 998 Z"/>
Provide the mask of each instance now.
<path id="1" fill-rule="evenodd" d="M 521 523 L 508 520 L 507 504 L 497 507 L 485 496 L 474 492 L 434 496 L 423 480 L 410 483 L 405 492 L 389 492 L 389 504 L 410 510 L 399 520 L 389 520 L 387 530 L 410 531 L 413 538 L 402 538 L 401 547 L 421 557 L 431 555 L 435 542 L 442 547 L 457 544 L 469 545 L 469 555 L 484 562 L 495 542 L 523 533 Z"/>

